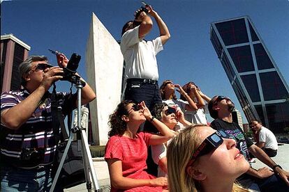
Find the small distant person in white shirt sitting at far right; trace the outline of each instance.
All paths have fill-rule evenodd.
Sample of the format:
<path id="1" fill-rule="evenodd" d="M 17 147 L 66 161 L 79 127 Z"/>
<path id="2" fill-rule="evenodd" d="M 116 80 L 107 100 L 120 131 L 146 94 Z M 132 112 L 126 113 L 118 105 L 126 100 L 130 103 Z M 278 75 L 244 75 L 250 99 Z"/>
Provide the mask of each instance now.
<path id="1" fill-rule="evenodd" d="M 258 133 L 259 141 L 255 145 L 260 147 L 269 157 L 275 157 L 278 150 L 278 142 L 272 131 L 263 127 L 258 120 L 252 120 L 250 127 Z"/>

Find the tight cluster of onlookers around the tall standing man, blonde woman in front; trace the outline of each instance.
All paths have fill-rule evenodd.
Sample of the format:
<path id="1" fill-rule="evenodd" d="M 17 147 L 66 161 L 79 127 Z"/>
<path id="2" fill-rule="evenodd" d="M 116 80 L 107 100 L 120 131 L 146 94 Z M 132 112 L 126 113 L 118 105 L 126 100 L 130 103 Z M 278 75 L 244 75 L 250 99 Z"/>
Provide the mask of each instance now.
<path id="1" fill-rule="evenodd" d="M 160 33 L 152 41 L 144 40 L 153 26 L 149 15 Z M 170 32 L 151 6 L 137 10 L 121 35 L 126 89 L 110 115 L 105 149 L 112 191 L 288 190 L 289 173 L 232 122 L 235 105 L 228 97 L 211 99 L 193 82 L 167 80 L 158 88 L 156 54 Z M 215 119 L 211 127 L 206 109 Z M 249 152 L 272 170 L 251 168 Z"/>

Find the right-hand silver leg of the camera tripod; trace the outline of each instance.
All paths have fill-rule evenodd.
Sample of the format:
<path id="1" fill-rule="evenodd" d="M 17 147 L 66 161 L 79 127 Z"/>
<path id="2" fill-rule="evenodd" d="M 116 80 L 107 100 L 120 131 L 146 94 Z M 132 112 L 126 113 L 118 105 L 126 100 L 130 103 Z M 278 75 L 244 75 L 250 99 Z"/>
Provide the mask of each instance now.
<path id="1" fill-rule="evenodd" d="M 92 184 L 94 184 L 94 189 L 96 189 L 96 191 L 99 191 L 98 181 L 94 170 L 94 163 L 92 161 L 91 152 L 89 150 L 87 134 L 83 129 L 81 130 L 81 137 L 82 137 L 82 157 L 85 168 L 84 170 L 85 170 L 85 179 L 87 180 L 87 186 L 90 184 L 90 176 L 89 176 L 90 173 Z"/>

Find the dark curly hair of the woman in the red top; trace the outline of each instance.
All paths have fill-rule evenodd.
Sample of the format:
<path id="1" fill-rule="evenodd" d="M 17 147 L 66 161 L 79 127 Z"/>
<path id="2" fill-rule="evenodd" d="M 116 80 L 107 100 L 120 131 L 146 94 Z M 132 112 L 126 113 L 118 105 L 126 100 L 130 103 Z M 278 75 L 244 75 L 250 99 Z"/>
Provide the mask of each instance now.
<path id="1" fill-rule="evenodd" d="M 110 115 L 110 120 L 108 121 L 108 125 L 110 126 L 110 131 L 108 131 L 108 136 L 115 135 L 123 135 L 124 131 L 126 131 L 126 122 L 121 119 L 122 115 L 127 115 L 128 111 L 126 106 L 128 104 L 134 104 L 132 100 L 124 100 L 117 105 L 117 109 L 115 109 L 114 113 Z"/>

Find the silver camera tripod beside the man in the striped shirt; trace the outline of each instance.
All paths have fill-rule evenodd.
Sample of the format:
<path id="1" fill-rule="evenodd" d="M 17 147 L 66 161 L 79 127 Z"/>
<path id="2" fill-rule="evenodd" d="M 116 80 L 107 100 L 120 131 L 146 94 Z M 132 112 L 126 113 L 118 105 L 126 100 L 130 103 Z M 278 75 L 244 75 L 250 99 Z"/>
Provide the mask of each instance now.
<path id="1" fill-rule="evenodd" d="M 82 127 L 81 119 L 82 119 L 82 110 L 81 110 L 81 91 L 84 86 L 84 82 L 80 80 L 80 78 L 76 79 L 75 86 L 77 88 L 77 126 L 71 129 L 71 134 L 68 138 L 68 143 L 64 150 L 64 154 L 61 158 L 59 166 L 57 168 L 57 173 L 53 179 L 52 186 L 50 188 L 50 192 L 54 191 L 55 185 L 57 184 L 57 179 L 61 172 L 61 168 L 64 165 L 64 160 L 66 159 L 68 149 L 71 146 L 71 142 L 73 141 L 73 133 L 80 134 L 81 136 L 81 145 L 82 145 L 82 161 L 84 165 L 84 175 L 85 181 L 87 183 L 87 191 L 92 191 L 91 189 L 91 180 L 92 184 L 94 185 L 94 191 L 99 191 L 98 181 L 96 177 L 96 173 L 94 170 L 94 163 L 92 161 L 91 152 L 89 150 L 87 134 L 85 132 L 86 127 Z M 87 113 L 87 112 L 84 112 Z M 84 125 L 85 126 L 85 125 Z M 80 143 L 80 142 L 78 142 Z"/>

